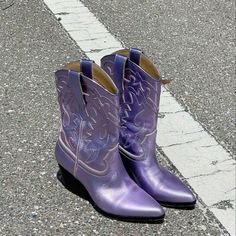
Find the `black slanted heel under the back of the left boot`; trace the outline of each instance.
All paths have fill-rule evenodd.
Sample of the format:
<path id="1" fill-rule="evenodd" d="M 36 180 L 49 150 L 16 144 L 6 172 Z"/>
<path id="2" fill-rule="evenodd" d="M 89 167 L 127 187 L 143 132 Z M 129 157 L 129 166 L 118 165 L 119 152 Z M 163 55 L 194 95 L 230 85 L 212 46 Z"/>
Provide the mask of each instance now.
<path id="1" fill-rule="evenodd" d="M 63 186 L 70 192 L 76 194 L 77 196 L 90 200 L 90 196 L 86 188 L 77 180 L 71 173 L 69 173 L 65 168 L 59 165 L 60 171 L 57 174 L 58 180 L 63 184 Z"/>

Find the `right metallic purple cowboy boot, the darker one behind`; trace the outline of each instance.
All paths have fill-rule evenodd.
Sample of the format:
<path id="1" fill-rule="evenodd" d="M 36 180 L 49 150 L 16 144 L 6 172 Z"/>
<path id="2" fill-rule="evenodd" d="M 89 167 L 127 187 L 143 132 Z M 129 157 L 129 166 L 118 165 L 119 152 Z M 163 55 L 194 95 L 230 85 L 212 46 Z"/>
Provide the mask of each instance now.
<path id="1" fill-rule="evenodd" d="M 188 187 L 156 160 L 156 128 L 162 81 L 138 49 L 122 49 L 101 60 L 120 95 L 120 153 L 135 182 L 161 205 L 192 209 Z"/>

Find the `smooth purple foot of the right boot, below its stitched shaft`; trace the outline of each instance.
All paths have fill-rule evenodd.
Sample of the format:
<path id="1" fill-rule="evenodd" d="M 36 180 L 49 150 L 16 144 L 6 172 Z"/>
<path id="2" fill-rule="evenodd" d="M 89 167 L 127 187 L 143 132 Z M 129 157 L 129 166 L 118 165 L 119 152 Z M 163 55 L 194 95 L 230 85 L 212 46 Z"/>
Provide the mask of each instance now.
<path id="1" fill-rule="evenodd" d="M 157 201 L 195 202 L 195 196 L 188 187 L 166 168 L 158 165 L 155 158 L 143 161 L 129 160 L 128 165 L 136 182 Z"/>

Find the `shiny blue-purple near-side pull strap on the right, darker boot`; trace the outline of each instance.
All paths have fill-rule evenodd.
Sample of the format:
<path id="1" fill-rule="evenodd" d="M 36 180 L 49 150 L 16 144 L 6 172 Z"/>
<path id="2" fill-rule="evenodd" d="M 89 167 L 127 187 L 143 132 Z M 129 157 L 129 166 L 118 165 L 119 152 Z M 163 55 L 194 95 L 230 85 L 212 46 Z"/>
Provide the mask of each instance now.
<path id="1" fill-rule="evenodd" d="M 113 82 L 115 83 L 116 87 L 119 89 L 119 92 L 122 93 L 123 90 L 123 80 L 125 76 L 125 65 L 126 65 L 127 58 L 116 54 L 115 61 L 114 61 L 114 75 L 112 76 Z"/>

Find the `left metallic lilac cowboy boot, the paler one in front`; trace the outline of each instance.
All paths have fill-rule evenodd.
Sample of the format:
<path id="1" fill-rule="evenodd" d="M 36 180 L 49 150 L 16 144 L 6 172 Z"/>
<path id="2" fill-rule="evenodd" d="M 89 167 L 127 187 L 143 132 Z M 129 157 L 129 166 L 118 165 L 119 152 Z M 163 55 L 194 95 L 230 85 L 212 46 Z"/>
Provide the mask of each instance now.
<path id="1" fill-rule="evenodd" d="M 80 182 L 106 216 L 163 222 L 163 208 L 130 178 L 121 160 L 119 97 L 113 81 L 85 59 L 55 75 L 62 119 L 55 155 L 65 185 Z"/>

